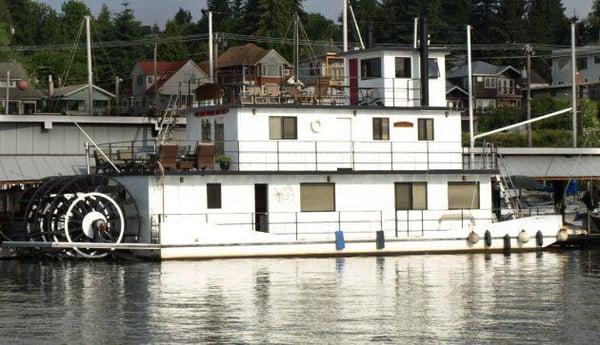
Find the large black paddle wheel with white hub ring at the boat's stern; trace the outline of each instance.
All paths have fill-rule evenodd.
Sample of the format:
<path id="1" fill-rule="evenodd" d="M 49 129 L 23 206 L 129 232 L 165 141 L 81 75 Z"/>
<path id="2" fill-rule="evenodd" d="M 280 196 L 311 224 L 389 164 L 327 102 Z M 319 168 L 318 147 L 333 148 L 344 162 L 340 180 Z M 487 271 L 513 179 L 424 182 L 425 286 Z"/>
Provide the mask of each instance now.
<path id="1" fill-rule="evenodd" d="M 132 195 L 108 176 L 61 176 L 24 187 L 12 203 L 11 241 L 136 243 L 140 214 Z M 110 250 L 71 248 L 62 254 L 103 258 Z"/>

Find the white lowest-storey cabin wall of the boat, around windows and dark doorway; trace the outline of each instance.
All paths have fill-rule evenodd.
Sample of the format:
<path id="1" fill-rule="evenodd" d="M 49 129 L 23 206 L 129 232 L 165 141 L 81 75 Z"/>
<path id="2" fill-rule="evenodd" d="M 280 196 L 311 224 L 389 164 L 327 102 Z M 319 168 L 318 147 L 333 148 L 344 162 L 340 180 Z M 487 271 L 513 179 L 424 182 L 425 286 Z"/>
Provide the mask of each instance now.
<path id="1" fill-rule="evenodd" d="M 374 233 L 381 226 L 386 231 L 393 231 L 397 224 L 400 236 L 405 236 L 407 233 L 405 230 L 407 216 L 412 222 L 409 236 L 421 236 L 419 230 L 421 226 L 428 227 L 430 230 L 437 229 L 441 226 L 438 219 L 449 214 L 464 215 L 465 219 L 475 217 L 479 225 L 491 222 L 489 218 L 491 214 L 490 175 L 195 175 L 165 176 L 162 180 L 149 177 L 145 181 L 148 181 L 150 190 L 146 219 L 162 219 L 161 243 L 163 244 L 195 241 L 198 238 L 201 240 L 202 231 L 214 227 L 219 228 L 217 231 L 230 229 L 253 233 L 255 184 L 269 186 L 269 232 L 276 234 L 290 235 L 299 227 L 300 232 L 309 237 L 317 234 L 332 235 L 338 230 L 338 217 L 341 217 L 344 231 Z M 461 181 L 480 183 L 479 209 L 448 210 L 447 183 Z M 300 183 L 324 182 L 335 184 L 335 211 L 301 212 Z M 396 211 L 394 184 L 397 182 L 427 182 L 428 209 Z M 222 208 L 207 209 L 207 183 L 221 184 Z M 128 183 L 128 186 L 132 184 Z M 143 186 L 140 188 L 133 186 L 130 188 L 135 195 L 144 193 Z M 426 221 L 422 223 L 421 218 Z M 453 220 L 453 229 L 466 226 L 460 219 L 459 217 Z M 362 222 L 352 222 L 352 220 Z M 395 223 L 395 220 L 398 223 Z M 236 241 L 235 238 L 230 240 Z"/>

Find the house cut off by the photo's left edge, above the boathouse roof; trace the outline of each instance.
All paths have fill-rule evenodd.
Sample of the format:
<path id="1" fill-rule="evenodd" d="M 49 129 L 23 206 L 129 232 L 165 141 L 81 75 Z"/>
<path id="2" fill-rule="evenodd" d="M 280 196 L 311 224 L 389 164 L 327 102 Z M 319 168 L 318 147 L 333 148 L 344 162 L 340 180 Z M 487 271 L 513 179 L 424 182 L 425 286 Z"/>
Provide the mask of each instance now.
<path id="1" fill-rule="evenodd" d="M 11 115 L 30 115 L 38 112 L 46 94 L 33 87 L 31 78 L 20 63 L 0 63 L 0 114 L 6 113 L 6 72 L 10 72 L 8 112 Z"/>

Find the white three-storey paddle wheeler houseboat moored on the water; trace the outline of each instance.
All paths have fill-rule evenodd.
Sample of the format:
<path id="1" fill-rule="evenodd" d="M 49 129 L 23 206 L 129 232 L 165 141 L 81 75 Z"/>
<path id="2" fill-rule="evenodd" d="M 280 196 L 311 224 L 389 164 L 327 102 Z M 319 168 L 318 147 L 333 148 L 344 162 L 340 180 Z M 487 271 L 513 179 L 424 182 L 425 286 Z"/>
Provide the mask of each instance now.
<path id="1" fill-rule="evenodd" d="M 471 160 L 461 114 L 446 106 L 446 54 L 348 52 L 347 87 L 242 85 L 188 111 L 185 138 L 92 147 L 97 174 L 20 194 L 10 243 L 208 259 L 535 250 L 565 239 L 557 215 L 500 218 L 494 149 Z"/>

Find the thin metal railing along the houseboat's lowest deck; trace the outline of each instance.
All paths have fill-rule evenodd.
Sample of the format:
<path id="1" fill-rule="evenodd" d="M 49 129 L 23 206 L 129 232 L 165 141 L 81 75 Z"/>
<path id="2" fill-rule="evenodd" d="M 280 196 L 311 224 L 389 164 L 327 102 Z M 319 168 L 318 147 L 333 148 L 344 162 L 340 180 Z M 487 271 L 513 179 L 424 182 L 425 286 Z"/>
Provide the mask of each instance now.
<path id="1" fill-rule="evenodd" d="M 308 239 L 315 236 L 333 235 L 342 230 L 347 234 L 374 234 L 386 231 L 394 237 L 424 237 L 427 234 L 446 233 L 466 229 L 471 225 L 496 223 L 501 210 L 396 210 L 392 218 L 384 211 L 332 211 L 332 212 L 239 212 L 239 213 L 164 213 L 156 216 L 161 222 L 172 217 L 198 224 L 211 224 L 219 231 L 227 229 L 263 231 L 273 235 Z M 547 209 L 529 209 L 519 212 L 518 218 L 536 215 L 553 215 Z M 264 218 L 261 218 L 264 216 Z M 387 216 L 387 217 L 386 217 Z M 465 234 L 465 236 L 468 234 Z"/>

